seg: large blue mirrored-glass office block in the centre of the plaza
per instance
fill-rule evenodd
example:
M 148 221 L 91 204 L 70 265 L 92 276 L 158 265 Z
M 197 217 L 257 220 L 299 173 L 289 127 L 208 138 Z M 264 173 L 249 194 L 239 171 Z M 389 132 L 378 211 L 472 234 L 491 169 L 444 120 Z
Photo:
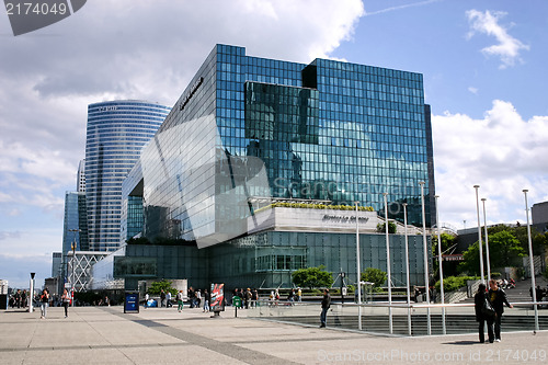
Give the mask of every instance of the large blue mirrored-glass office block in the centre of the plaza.
M 122 239 L 142 227 L 151 241 L 195 241 L 212 266 L 206 276 L 189 271 L 184 277 L 204 283 L 232 277 L 233 285 L 287 285 L 290 271 L 328 261 L 328 270 L 350 272 L 355 236 L 250 233 L 250 223 L 262 225 L 255 212 L 279 199 L 359 202 L 384 216 L 388 193 L 390 219 L 403 220 L 407 203 L 408 221 L 422 226 L 424 181 L 430 226 L 433 169 L 422 75 L 328 59 L 305 65 L 258 58 L 243 47 L 217 45 L 124 182 Z M 142 217 L 130 214 L 139 203 Z M 379 266 L 385 238 L 368 235 L 363 261 Z M 412 242 L 419 278 L 422 239 Z M 139 250 L 146 256 L 147 249 Z M 329 259 L 333 252 L 344 254 Z

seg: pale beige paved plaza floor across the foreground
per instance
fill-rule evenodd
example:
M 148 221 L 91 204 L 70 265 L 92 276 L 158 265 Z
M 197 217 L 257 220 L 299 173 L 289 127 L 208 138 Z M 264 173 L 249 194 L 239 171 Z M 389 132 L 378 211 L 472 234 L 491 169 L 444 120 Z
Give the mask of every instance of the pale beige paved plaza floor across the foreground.
M 318 316 L 319 316 L 318 309 Z M 0 364 L 548 364 L 548 332 L 375 337 L 246 318 L 232 308 L 210 318 L 201 309 L 123 307 L 0 311 Z

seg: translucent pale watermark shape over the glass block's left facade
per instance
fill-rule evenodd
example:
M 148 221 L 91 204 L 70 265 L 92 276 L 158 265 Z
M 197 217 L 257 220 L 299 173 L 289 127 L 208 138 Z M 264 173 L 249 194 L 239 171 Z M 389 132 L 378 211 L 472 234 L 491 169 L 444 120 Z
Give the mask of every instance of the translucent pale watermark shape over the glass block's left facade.
M 266 169 L 260 158 L 230 156 L 218 136 L 207 115 L 158 133 L 144 150 L 147 237 L 204 248 L 247 232 L 249 197 L 271 194 Z

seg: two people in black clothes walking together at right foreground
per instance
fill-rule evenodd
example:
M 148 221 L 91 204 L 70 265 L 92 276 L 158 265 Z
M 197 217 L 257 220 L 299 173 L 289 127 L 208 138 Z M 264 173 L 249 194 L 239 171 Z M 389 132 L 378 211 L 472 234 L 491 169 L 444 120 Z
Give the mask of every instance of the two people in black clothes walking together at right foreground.
M 486 284 L 481 283 L 473 297 L 476 309 L 476 321 L 479 322 L 479 341 L 486 342 L 486 323 L 488 340 L 490 343 L 501 342 L 501 321 L 504 312 L 504 305 L 510 308 L 506 293 L 499 286 L 495 280 L 489 281 L 489 290 Z

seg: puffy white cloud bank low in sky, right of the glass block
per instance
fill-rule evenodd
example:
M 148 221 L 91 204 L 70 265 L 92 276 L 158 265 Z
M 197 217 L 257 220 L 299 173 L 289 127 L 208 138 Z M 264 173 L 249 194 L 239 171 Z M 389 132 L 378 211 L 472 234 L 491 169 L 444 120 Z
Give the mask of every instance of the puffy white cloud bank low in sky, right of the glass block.
M 548 116 L 524 121 L 510 102 L 495 100 L 482 119 L 434 115 L 433 136 L 442 221 L 477 225 L 475 184 L 488 198 L 489 223 L 523 223 L 523 189 L 530 205 L 546 199 Z

